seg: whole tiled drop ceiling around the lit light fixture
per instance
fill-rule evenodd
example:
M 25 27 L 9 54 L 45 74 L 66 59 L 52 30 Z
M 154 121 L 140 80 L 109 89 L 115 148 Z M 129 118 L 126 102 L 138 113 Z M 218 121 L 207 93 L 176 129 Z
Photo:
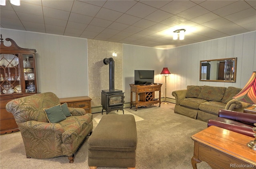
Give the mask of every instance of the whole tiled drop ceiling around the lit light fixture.
M 0 26 L 169 49 L 255 31 L 256 0 L 6 0 Z

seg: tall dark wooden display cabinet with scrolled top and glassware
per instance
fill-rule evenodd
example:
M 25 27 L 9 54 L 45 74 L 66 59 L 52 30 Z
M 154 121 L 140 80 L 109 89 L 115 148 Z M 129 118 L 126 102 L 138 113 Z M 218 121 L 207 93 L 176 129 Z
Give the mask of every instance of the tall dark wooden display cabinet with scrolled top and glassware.
M 36 50 L 20 48 L 14 40 L 4 45 L 0 38 L 0 134 L 18 131 L 12 113 L 6 111 L 6 104 L 16 98 L 37 93 Z

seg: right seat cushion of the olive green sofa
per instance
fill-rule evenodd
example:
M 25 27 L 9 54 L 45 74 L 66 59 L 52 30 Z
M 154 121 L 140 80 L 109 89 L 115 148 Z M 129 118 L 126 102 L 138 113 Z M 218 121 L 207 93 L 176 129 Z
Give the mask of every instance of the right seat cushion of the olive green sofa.
M 208 113 L 218 114 L 219 110 L 224 109 L 225 106 L 226 106 L 226 104 L 222 103 L 222 102 L 207 101 L 207 102 L 201 103 L 199 105 L 199 109 L 201 111 L 206 111 Z

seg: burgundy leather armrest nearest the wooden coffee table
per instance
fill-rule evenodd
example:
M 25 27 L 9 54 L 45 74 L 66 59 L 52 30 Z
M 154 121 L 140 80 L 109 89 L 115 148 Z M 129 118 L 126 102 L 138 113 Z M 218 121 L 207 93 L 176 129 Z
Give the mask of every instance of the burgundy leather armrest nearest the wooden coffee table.
M 210 127 L 211 125 L 214 125 L 214 126 L 217 126 L 217 127 L 223 128 L 223 129 L 227 129 L 230 131 L 234 131 L 236 133 L 240 133 L 243 135 L 248 135 L 250 137 L 254 137 L 254 132 L 252 131 L 252 128 L 250 128 L 250 127 L 228 124 L 228 123 L 224 123 L 221 121 L 216 121 L 216 120 L 210 119 L 208 121 L 208 127 Z

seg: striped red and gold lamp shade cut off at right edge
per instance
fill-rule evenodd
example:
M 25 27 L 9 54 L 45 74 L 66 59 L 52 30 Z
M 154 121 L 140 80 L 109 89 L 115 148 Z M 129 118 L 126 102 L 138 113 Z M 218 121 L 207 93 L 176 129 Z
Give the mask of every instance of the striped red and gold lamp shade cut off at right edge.
M 237 95 L 233 97 L 233 99 L 256 104 L 256 72 L 252 73 L 252 76 L 247 84 Z

